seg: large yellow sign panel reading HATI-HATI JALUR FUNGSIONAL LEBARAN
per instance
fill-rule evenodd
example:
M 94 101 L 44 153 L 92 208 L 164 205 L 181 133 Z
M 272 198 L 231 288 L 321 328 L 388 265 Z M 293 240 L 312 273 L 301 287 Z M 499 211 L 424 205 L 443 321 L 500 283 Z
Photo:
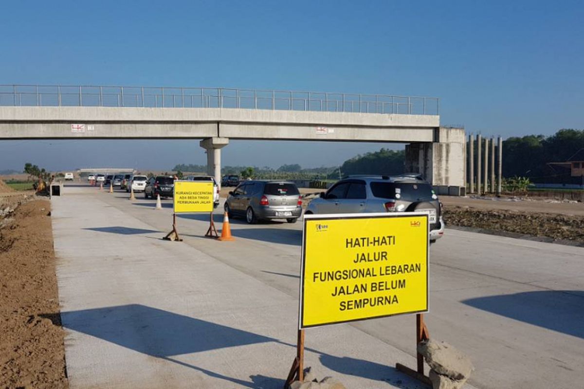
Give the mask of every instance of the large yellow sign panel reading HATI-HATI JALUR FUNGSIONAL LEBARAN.
M 428 215 L 305 215 L 300 329 L 428 310 Z

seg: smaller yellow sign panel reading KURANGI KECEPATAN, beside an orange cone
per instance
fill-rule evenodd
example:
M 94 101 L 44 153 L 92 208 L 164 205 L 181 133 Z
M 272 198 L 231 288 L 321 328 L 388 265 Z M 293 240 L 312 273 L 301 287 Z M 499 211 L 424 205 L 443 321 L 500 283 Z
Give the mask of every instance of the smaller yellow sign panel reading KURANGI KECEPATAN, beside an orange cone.
M 175 181 L 174 212 L 213 212 L 213 182 Z

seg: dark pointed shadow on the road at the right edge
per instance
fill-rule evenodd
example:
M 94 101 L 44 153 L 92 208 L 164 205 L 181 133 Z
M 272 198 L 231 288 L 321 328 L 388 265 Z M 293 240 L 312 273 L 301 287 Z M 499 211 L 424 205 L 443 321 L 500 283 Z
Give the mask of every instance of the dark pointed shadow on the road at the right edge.
M 538 290 L 463 300 L 471 307 L 584 338 L 582 290 Z

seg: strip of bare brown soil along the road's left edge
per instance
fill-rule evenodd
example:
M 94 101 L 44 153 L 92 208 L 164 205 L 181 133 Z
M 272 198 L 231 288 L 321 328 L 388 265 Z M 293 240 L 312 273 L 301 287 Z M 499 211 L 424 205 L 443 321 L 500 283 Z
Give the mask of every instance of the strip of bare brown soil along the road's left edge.
M 23 201 L 0 229 L 0 388 L 67 388 L 50 202 Z

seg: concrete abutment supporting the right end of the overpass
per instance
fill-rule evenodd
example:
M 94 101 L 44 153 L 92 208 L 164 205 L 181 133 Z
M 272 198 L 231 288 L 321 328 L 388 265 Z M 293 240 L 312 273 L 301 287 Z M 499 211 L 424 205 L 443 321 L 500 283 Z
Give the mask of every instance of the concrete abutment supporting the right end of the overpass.
M 463 128 L 436 128 L 434 142 L 410 143 L 405 146 L 405 171 L 420 173 L 438 195 L 465 195 Z

